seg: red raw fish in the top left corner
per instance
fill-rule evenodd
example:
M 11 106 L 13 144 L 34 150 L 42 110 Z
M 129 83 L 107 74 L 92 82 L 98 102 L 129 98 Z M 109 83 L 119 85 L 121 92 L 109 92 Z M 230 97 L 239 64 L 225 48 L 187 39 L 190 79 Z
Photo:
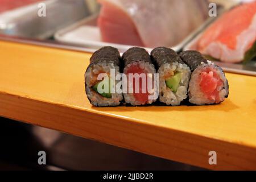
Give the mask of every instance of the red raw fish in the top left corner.
M 39 2 L 39 0 L 0 0 L 0 13 L 30 5 L 35 2 Z

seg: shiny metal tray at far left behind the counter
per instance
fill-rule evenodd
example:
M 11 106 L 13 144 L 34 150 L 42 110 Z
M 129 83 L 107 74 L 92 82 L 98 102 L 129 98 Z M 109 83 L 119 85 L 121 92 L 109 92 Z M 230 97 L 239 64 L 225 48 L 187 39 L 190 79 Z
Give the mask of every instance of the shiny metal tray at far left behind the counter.
M 38 16 L 38 3 L 0 14 L 0 34 L 46 39 L 57 30 L 92 14 L 92 3 L 84 0 L 48 0 L 46 17 Z M 89 6 L 90 5 L 90 6 Z

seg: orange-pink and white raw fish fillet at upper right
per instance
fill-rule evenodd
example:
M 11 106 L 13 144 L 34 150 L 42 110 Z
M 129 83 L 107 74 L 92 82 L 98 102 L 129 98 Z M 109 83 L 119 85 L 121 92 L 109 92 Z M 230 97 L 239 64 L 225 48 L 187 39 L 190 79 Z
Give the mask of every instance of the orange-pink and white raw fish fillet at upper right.
M 256 1 L 228 11 L 189 49 L 224 62 L 238 63 L 256 41 Z

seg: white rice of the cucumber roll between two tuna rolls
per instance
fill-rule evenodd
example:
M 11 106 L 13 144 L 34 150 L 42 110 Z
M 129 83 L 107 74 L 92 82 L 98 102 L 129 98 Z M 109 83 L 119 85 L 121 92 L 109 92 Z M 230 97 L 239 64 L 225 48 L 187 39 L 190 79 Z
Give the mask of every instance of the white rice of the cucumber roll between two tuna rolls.
M 180 84 L 177 88 L 177 92 L 172 92 L 170 88 L 166 86 L 166 75 L 174 75 L 175 72 L 181 72 L 182 77 Z M 187 98 L 188 82 L 191 75 L 191 71 L 186 64 L 181 63 L 166 63 L 159 69 L 159 100 L 167 105 L 177 106 L 180 102 Z

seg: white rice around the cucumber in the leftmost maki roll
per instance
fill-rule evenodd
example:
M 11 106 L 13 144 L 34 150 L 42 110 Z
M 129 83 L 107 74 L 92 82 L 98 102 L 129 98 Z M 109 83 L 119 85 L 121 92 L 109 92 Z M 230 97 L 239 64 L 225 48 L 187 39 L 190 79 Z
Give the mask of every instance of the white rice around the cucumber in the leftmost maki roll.
M 119 73 L 119 68 L 115 67 L 113 63 L 98 63 L 89 67 L 85 73 L 85 82 L 86 82 L 86 94 L 89 100 L 93 105 L 96 106 L 118 106 L 123 100 L 122 94 L 112 93 L 112 98 L 106 98 L 95 92 L 92 88 L 95 82 L 94 79 L 97 79 L 99 73 L 107 73 L 110 76 L 110 69 L 115 69 L 115 75 Z M 115 81 L 117 84 L 118 81 Z

